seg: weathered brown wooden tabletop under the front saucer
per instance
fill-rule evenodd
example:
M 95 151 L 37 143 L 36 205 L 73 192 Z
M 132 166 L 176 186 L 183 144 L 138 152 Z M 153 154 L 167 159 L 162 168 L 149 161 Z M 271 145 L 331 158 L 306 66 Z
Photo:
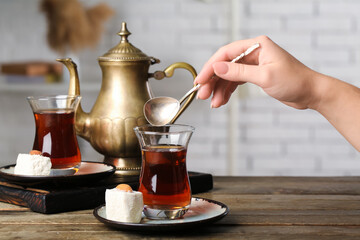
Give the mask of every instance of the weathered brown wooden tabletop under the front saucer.
M 0 203 L 0 239 L 360 239 L 360 177 L 215 177 L 196 196 L 225 203 L 229 215 L 149 234 L 111 229 L 92 210 L 45 215 Z

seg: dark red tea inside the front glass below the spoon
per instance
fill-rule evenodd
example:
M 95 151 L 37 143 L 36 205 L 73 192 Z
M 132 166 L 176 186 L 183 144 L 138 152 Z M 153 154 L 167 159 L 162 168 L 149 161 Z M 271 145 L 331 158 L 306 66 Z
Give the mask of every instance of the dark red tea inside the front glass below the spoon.
M 142 151 L 139 191 L 144 204 L 156 209 L 177 209 L 190 205 L 191 189 L 186 169 L 186 149 L 155 146 Z

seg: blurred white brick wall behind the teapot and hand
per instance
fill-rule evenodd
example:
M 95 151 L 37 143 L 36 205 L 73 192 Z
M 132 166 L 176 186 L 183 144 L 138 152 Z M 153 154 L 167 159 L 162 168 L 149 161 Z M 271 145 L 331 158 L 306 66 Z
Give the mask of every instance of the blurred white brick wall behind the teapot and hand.
M 79 66 L 82 105 L 90 111 L 101 84 L 97 58 L 115 46 L 121 22 L 129 41 L 161 60 L 150 72 L 184 61 L 199 72 L 215 51 L 234 40 L 268 35 L 307 66 L 359 86 L 360 2 L 356 0 L 88 0 L 84 9 L 105 3 L 113 13 L 102 23 L 92 47 L 55 51 L 47 41 L 49 19 L 40 0 L 0 2 L 0 64 L 54 63 L 72 57 Z M 111 15 L 111 16 L 110 16 Z M 76 31 L 76 30 L 75 30 Z M 80 31 L 80 30 L 79 30 Z M 0 165 L 28 152 L 34 119 L 26 96 L 67 92 L 67 72 L 52 81 L 0 76 Z M 156 96 L 180 98 L 191 75 L 150 79 Z M 256 87 L 242 86 L 231 102 L 210 109 L 195 100 L 178 123 L 196 131 L 188 149 L 188 170 L 214 175 L 347 176 L 360 174 L 360 155 L 318 113 L 291 109 Z M 80 139 L 85 161 L 102 161 Z

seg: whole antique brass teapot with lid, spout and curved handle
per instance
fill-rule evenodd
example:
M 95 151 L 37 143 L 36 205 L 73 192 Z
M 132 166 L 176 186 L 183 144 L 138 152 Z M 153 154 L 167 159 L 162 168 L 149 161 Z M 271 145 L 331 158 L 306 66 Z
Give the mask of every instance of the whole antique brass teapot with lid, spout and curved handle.
M 116 173 L 137 177 L 141 168 L 141 151 L 133 128 L 146 124 L 143 106 L 150 99 L 148 78 L 161 80 L 171 77 L 176 68 L 184 68 L 196 77 L 195 69 L 184 62 L 171 64 L 164 71 L 149 73 L 149 67 L 160 61 L 149 57 L 128 41 L 131 33 L 126 23 L 118 35 L 119 44 L 98 58 L 102 70 L 102 84 L 90 113 L 81 104 L 76 110 L 75 129 L 78 136 L 89 141 L 104 155 L 104 162 L 116 166 Z M 70 59 L 57 59 L 70 72 L 69 95 L 80 95 L 76 64 Z M 181 106 L 174 122 L 194 99 L 195 93 Z

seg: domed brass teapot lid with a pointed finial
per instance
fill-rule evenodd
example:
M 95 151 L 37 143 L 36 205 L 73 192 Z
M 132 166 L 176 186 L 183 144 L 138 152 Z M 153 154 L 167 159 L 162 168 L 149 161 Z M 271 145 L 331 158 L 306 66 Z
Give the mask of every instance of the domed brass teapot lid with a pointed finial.
M 128 36 L 131 34 L 127 30 L 126 22 L 122 22 L 121 30 L 118 32 L 118 35 L 121 37 L 120 42 L 113 48 L 111 48 L 107 53 L 98 58 L 99 62 L 108 62 L 108 61 L 151 61 L 158 62 L 159 60 L 147 56 L 140 49 L 134 47 L 128 41 Z

